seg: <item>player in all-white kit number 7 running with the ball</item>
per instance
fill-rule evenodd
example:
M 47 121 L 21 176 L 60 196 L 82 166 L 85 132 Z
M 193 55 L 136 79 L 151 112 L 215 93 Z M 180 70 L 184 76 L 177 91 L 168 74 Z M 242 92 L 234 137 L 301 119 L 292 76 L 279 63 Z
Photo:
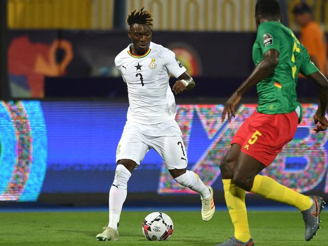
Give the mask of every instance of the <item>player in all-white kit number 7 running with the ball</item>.
M 127 23 L 132 43 L 115 58 L 128 87 L 127 122 L 116 152 L 117 168 L 110 190 L 110 222 L 97 240 L 118 240 L 118 223 L 127 197 L 127 183 L 133 169 L 153 148 L 165 161 L 173 178 L 201 196 L 201 215 L 209 221 L 215 211 L 213 189 L 198 175 L 186 170 L 187 154 L 181 130 L 175 121 L 175 98 L 169 85 L 170 73 L 178 81 L 176 94 L 195 87 L 194 80 L 171 50 L 151 42 L 152 15 L 148 11 L 132 11 Z

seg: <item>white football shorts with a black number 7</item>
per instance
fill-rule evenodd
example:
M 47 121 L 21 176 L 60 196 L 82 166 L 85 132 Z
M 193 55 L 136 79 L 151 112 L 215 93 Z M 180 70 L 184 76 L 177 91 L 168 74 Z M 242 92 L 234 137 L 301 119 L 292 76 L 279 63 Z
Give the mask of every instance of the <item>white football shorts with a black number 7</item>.
M 186 148 L 181 130 L 175 120 L 155 125 L 127 121 L 116 151 L 116 162 L 130 159 L 139 166 L 151 148 L 162 157 L 168 169 L 187 167 Z

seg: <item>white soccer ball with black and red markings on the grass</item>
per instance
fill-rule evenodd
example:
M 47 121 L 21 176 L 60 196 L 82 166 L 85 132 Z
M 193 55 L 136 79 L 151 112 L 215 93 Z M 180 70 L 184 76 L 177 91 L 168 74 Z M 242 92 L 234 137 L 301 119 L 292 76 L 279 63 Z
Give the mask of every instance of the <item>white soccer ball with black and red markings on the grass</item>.
M 173 233 L 173 221 L 165 213 L 153 212 L 143 220 L 142 233 L 150 241 L 168 240 Z

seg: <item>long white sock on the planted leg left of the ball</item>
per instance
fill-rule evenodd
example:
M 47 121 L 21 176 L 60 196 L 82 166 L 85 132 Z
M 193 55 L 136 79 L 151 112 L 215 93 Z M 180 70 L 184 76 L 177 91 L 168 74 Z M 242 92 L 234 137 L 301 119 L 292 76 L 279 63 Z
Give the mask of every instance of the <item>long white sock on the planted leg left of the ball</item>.
M 127 198 L 127 184 L 130 177 L 131 172 L 125 166 L 117 165 L 110 190 L 110 223 L 108 223 L 108 227 L 112 227 L 114 230 L 117 230 L 123 203 Z

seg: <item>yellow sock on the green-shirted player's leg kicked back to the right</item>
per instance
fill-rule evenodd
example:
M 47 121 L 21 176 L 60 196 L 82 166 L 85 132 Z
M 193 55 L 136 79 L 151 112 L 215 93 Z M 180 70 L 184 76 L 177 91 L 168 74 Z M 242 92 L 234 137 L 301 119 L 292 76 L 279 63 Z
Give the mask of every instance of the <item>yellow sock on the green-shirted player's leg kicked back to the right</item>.
M 309 209 L 313 204 L 310 197 L 295 192 L 267 176 L 256 175 L 251 192 L 295 206 L 300 211 Z

